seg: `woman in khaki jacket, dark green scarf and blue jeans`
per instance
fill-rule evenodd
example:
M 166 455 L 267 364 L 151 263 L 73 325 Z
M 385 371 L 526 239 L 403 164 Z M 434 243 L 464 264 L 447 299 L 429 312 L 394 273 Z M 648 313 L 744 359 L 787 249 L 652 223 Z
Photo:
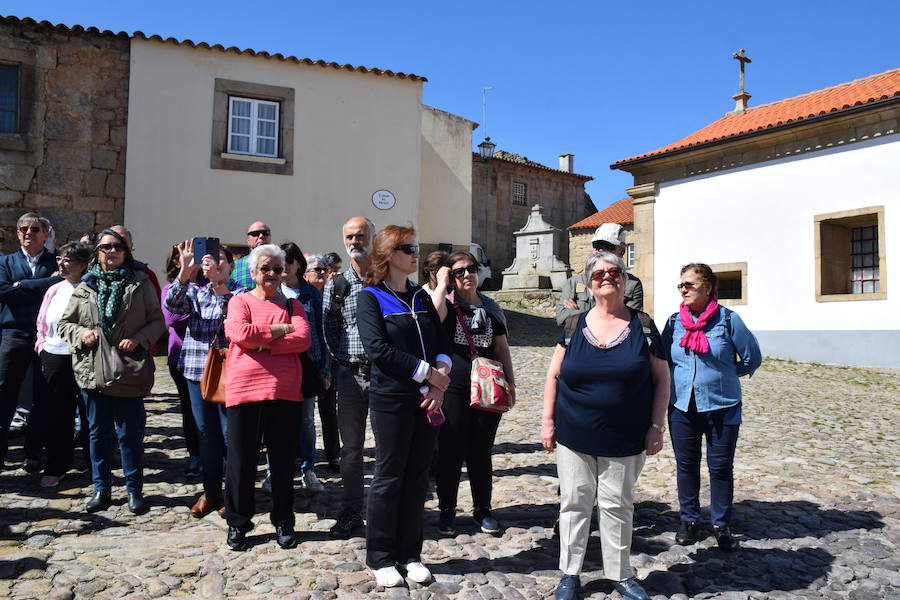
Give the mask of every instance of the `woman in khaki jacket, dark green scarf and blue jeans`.
M 143 459 L 144 396 L 150 393 L 152 382 L 144 389 L 113 384 L 101 392 L 94 368 L 99 336 L 105 335 L 121 352 L 142 349 L 149 359 L 150 346 L 165 330 L 159 295 L 147 274 L 135 268 L 125 238 L 111 229 L 102 231 L 88 272 L 72 292 L 57 325 L 59 336 L 72 349 L 75 381 L 82 390 L 90 424 L 94 493 L 85 507 L 88 512 L 112 504 L 114 435 L 119 441 L 128 509 L 143 514 L 150 508 L 143 497 Z M 112 391 L 116 389 L 122 391 Z

